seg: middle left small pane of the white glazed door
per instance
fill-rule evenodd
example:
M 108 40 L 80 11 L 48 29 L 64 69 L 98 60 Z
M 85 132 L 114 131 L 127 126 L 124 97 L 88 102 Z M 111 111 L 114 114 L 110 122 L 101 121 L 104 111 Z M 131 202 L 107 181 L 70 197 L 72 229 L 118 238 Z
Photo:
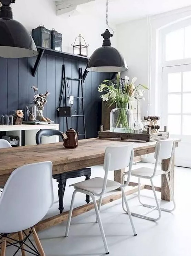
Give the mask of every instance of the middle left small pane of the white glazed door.
M 168 95 L 168 114 L 181 113 L 181 95 L 169 94 Z

